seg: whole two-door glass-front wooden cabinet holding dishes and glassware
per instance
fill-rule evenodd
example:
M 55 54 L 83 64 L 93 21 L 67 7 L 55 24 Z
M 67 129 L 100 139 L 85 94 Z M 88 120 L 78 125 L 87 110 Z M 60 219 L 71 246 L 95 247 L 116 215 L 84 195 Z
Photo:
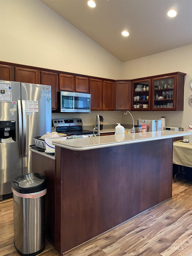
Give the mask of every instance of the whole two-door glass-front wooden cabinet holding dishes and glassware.
M 183 110 L 185 75 L 175 72 L 133 80 L 131 110 Z

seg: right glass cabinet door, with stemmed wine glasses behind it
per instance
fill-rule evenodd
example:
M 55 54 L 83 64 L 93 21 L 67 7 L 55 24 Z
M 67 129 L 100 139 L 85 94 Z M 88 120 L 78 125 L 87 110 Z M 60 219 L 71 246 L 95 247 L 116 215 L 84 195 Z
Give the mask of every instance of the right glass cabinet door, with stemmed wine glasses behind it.
M 175 110 L 176 76 L 152 79 L 152 110 Z

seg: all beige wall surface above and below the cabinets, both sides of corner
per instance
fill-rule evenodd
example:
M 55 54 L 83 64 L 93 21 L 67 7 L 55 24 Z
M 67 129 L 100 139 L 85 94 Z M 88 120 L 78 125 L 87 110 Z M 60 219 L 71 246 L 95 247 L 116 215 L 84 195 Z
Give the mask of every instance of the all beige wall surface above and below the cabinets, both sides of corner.
M 181 71 L 187 73 L 184 111 L 132 111 L 134 121 L 166 116 L 167 126 L 192 125 L 192 45 L 122 63 L 71 26 L 38 0 L 0 0 L 0 60 L 36 67 L 73 72 L 111 79 L 133 79 Z M 124 112 L 89 114 L 53 114 L 57 117 L 80 117 L 84 125 L 95 123 L 96 114 L 104 124 L 132 123 Z

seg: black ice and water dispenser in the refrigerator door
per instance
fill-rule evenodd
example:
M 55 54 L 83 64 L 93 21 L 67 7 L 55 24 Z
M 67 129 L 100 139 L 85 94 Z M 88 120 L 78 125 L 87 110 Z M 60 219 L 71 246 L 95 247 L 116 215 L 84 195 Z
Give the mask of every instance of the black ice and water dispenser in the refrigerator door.
M 0 143 L 16 141 L 16 122 L 0 121 Z

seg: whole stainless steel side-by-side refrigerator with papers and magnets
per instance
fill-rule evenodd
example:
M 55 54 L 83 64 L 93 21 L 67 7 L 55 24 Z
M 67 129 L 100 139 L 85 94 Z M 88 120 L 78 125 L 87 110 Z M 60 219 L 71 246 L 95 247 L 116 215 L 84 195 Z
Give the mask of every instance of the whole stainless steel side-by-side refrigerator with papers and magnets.
M 29 145 L 51 132 L 51 86 L 0 80 L 0 201 L 13 178 L 32 172 Z

